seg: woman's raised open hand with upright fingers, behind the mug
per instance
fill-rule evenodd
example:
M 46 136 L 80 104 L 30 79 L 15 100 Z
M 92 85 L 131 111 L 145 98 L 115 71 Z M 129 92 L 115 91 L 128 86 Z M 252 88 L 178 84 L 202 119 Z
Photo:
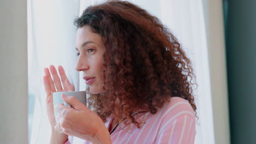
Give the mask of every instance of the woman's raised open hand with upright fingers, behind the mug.
M 74 91 L 74 85 L 69 83 L 67 76 L 65 74 L 65 70 L 60 65 L 58 67 L 59 74 L 61 77 L 58 76 L 57 71 L 53 65 L 50 65 L 50 71 L 51 75 L 53 76 L 53 79 L 51 79 L 51 75 L 48 68 L 44 69 L 44 88 L 46 92 L 46 111 L 49 118 L 49 122 L 51 125 L 51 128 L 54 129 L 54 126 L 56 125 L 55 116 L 54 116 L 54 105 L 53 105 L 53 93 L 54 92 L 67 92 L 67 91 Z M 61 86 L 61 82 L 63 84 L 63 87 Z M 56 91 L 56 89 L 57 91 Z

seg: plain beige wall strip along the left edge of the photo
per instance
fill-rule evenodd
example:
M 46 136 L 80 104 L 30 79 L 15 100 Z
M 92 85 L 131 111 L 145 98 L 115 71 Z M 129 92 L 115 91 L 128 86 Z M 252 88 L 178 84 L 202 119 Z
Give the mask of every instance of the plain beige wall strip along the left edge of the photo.
M 0 1 L 0 140 L 27 141 L 27 1 Z

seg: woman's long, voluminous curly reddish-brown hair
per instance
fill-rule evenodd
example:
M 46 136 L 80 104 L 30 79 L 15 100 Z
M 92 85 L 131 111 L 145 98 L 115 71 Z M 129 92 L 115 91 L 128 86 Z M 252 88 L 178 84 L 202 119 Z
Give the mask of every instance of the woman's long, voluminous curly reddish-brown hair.
M 87 88 L 88 107 L 103 122 L 113 115 L 116 122 L 127 119 L 139 128 L 133 113 L 145 106 L 156 113 L 171 97 L 188 100 L 196 115 L 191 62 L 157 17 L 127 1 L 107 1 L 86 8 L 74 24 L 90 26 L 106 47 L 104 92 Z

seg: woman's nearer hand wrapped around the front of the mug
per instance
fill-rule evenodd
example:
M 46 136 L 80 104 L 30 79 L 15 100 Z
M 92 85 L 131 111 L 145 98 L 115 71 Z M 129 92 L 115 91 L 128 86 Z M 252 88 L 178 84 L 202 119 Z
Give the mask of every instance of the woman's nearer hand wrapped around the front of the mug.
M 62 94 L 62 99 L 72 108 L 63 104 L 55 106 L 58 113 L 56 119 L 59 121 L 59 125 L 55 126 L 56 131 L 94 143 L 111 143 L 109 131 L 95 112 L 89 110 L 75 97 Z

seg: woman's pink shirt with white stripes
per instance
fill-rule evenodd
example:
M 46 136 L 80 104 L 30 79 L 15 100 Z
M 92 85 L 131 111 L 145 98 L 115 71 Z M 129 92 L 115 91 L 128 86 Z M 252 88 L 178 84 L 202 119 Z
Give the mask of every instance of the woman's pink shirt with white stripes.
M 140 111 L 135 118 L 145 122 L 141 128 L 137 128 L 133 123 L 123 129 L 117 127 L 110 135 L 112 143 L 194 143 L 195 114 L 191 105 L 183 98 L 171 98 L 171 101 L 155 114 L 149 111 Z M 105 123 L 107 129 L 112 120 L 109 118 Z M 123 123 L 119 125 L 124 126 Z M 65 144 L 70 143 L 68 140 Z M 91 142 L 83 140 L 82 143 L 89 144 Z

